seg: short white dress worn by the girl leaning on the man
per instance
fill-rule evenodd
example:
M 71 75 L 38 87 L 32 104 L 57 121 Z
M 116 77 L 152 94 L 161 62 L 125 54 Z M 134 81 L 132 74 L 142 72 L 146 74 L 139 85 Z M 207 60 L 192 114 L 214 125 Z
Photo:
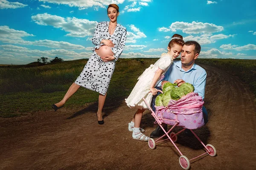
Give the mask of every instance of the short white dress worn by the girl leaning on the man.
M 172 56 L 166 53 L 163 53 L 160 59 L 153 65 L 151 64 L 149 68 L 147 68 L 143 74 L 140 75 L 138 78 L 138 82 L 134 86 L 131 94 L 125 99 L 129 108 L 137 108 L 137 109 L 149 109 L 148 106 L 145 104 L 143 97 L 151 105 L 152 100 L 152 93 L 150 92 L 151 82 L 153 80 L 154 74 L 156 73 L 157 69 L 160 68 L 163 70 L 163 73 L 158 78 L 156 86 L 163 78 L 166 71 L 169 69 L 173 62 Z

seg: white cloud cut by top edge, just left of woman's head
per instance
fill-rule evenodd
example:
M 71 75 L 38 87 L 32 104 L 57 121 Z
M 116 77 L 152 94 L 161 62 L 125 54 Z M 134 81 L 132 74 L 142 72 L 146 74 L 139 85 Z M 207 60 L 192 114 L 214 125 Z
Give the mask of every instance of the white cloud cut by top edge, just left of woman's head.
M 121 4 L 125 0 L 39 0 L 47 3 L 55 3 L 68 5 L 70 7 L 78 7 L 79 10 L 83 10 L 89 7 L 97 6 L 100 8 L 106 8 L 111 3 Z

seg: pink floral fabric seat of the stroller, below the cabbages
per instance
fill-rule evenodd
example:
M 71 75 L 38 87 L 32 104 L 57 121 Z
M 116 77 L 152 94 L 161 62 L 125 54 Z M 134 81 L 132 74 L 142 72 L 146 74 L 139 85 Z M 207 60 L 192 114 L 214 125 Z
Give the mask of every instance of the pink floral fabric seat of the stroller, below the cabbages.
M 187 129 L 197 129 L 204 125 L 203 108 L 204 101 L 198 93 L 189 93 L 179 100 L 170 100 L 167 107 L 155 106 L 156 115 L 161 122 Z

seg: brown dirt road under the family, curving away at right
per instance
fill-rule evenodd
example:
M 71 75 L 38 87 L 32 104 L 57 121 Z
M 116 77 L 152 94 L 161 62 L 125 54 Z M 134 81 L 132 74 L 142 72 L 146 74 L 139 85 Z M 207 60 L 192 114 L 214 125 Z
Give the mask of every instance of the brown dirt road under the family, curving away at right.
M 256 169 L 256 105 L 247 85 L 217 68 L 207 71 L 206 126 L 195 130 L 217 156 L 192 160 L 193 170 Z M 74 110 L 62 108 L 0 119 L 0 169 L 2 170 L 182 170 L 171 142 L 157 145 L 131 138 L 128 122 L 134 114 L 124 99 L 108 101 L 104 125 L 96 120 L 97 103 Z M 141 127 L 149 135 L 156 127 L 147 111 Z M 177 129 L 176 129 L 177 131 Z M 178 136 L 177 146 L 189 159 L 203 153 L 195 137 Z

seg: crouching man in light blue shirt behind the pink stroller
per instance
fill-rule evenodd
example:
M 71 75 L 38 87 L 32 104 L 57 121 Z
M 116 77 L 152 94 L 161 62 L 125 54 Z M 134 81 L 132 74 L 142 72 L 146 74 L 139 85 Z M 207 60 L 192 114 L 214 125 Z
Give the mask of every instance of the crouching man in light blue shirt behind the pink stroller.
M 195 64 L 195 59 L 198 58 L 199 53 L 201 51 L 201 46 L 196 41 L 187 41 L 183 45 L 181 50 L 180 61 L 174 61 L 173 64 L 170 66 L 166 74 L 164 75 L 165 78 L 162 82 L 157 85 L 157 89 L 162 90 L 162 86 L 166 82 L 177 83 L 179 87 L 181 84 L 188 82 L 192 84 L 195 88 L 195 93 L 202 96 L 204 99 L 204 91 L 206 85 L 206 71 L 204 68 L 201 68 L 199 65 Z M 160 92 L 157 94 L 159 95 Z M 153 96 L 151 107 L 153 111 L 155 111 L 155 99 L 156 96 Z M 203 114 L 204 114 L 204 124 L 208 122 L 208 115 L 205 107 L 203 107 Z M 163 127 L 167 130 L 167 125 L 163 124 Z M 189 133 L 189 131 L 185 131 Z M 163 130 L 160 126 L 158 126 L 151 134 L 151 138 L 157 138 L 163 135 Z

